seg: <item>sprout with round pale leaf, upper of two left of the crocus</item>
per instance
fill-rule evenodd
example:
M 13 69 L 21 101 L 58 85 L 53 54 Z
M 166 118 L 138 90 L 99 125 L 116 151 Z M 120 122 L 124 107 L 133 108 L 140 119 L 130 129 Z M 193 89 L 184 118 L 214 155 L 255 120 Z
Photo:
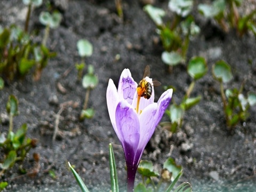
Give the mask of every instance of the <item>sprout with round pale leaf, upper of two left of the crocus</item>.
M 78 54 L 81 57 L 81 63 L 76 63 L 77 81 L 81 81 L 83 76 L 83 69 L 85 68 L 85 57 L 90 57 L 93 53 L 92 44 L 86 39 L 80 39 L 77 44 Z

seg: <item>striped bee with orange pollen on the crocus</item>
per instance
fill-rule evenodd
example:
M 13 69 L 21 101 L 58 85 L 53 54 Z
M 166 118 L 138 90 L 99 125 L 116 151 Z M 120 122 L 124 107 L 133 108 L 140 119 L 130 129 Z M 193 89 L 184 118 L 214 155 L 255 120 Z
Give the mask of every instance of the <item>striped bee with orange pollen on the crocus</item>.
M 152 86 L 159 86 L 161 85 L 158 81 L 153 81 L 152 83 L 147 82 L 147 78 L 150 75 L 150 68 L 147 65 L 144 69 L 142 80 L 140 81 L 137 92 L 140 97 L 144 97 L 145 99 L 149 99 L 152 94 Z

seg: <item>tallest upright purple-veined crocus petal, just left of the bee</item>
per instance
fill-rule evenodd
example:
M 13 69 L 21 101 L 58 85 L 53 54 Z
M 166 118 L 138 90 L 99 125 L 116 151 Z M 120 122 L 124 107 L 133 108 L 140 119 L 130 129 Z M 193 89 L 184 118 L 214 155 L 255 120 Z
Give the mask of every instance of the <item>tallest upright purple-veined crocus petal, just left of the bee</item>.
M 118 83 L 118 95 L 130 105 L 136 92 L 138 84 L 133 80 L 129 69 L 124 69 Z

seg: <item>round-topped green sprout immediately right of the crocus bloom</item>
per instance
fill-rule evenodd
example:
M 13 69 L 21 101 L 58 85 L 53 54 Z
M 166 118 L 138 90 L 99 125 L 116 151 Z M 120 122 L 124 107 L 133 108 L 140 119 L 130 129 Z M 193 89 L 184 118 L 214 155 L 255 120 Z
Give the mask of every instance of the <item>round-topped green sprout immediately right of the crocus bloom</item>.
M 186 94 L 182 98 L 181 103 L 179 105 L 177 103 L 173 103 L 169 110 L 165 111 L 165 113 L 170 117 L 171 122 L 162 122 L 160 124 L 161 126 L 173 133 L 176 132 L 179 127 L 181 127 L 185 111 L 195 106 L 201 100 L 200 95 L 190 98 L 190 94 L 194 89 L 196 81 L 202 78 L 207 73 L 207 71 L 208 68 L 204 58 L 194 57 L 189 60 L 187 73 L 191 78 L 193 78 L 193 80 L 190 83 Z

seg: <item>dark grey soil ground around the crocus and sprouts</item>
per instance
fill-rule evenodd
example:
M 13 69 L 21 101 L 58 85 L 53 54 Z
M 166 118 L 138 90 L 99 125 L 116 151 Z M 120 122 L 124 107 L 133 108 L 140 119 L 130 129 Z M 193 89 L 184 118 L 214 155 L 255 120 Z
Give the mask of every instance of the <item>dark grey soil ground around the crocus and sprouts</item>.
M 146 65 L 151 68 L 151 77 L 163 85 L 173 85 L 176 91 L 173 100 L 180 102 L 191 82 L 186 66 L 180 65 L 170 74 L 161 60 L 163 48 L 155 45 L 155 25 L 142 10 L 139 1 L 123 1 L 124 21 L 116 15 L 114 1 L 55 1 L 63 14 L 61 26 L 50 31 L 47 45 L 58 53 L 49 61 L 38 82 L 28 75 L 23 81 L 14 81 L 0 91 L 0 113 L 6 114 L 5 106 L 10 94 L 19 99 L 20 115 L 14 117 L 14 129 L 28 124 L 28 136 L 38 139 L 25 161 L 27 170 L 34 165 L 33 153 L 41 156 L 41 168 L 35 177 L 20 175 L 17 166 L 4 174 L 1 181 L 8 181 L 5 191 L 79 191 L 67 161 L 76 166 L 90 191 L 109 191 L 108 144 L 113 143 L 117 163 L 119 186 L 125 188 L 126 171 L 124 155 L 119 140 L 111 126 L 107 105 L 106 89 L 109 78 L 118 84 L 124 68 L 131 70 L 139 82 Z M 66 4 L 66 3 L 67 4 Z M 168 1 L 156 1 L 155 6 L 167 10 Z M 0 2 L 0 25 L 18 23 L 23 26 L 26 7 L 22 1 Z M 34 10 L 30 29 L 44 33 L 38 15 L 44 8 Z M 197 12 L 196 23 L 201 33 L 191 40 L 188 59 L 203 56 L 209 71 L 200 79 L 191 96 L 202 95 L 202 101 L 190 109 L 182 128 L 172 135 L 157 127 L 142 159 L 153 161 L 160 169 L 167 157 L 175 158 L 182 165 L 181 181 L 188 181 L 193 191 L 254 191 L 256 186 L 256 108 L 250 109 L 251 116 L 238 124 L 234 131 L 227 131 L 222 110 L 219 84 L 211 75 L 211 67 L 217 60 L 227 61 L 234 74 L 229 87 L 239 87 L 247 78 L 244 93 L 255 91 L 256 49 L 255 37 L 251 34 L 238 38 L 231 31 L 223 34 L 214 22 L 202 18 Z M 86 38 L 93 44 L 93 54 L 86 58 L 99 77 L 98 86 L 91 91 L 89 107 L 95 109 L 92 119 L 78 121 L 85 92 L 82 83 L 76 81 L 77 71 L 73 67 L 66 77 L 61 77 L 80 58 L 76 42 Z M 35 39 L 40 41 L 41 39 Z M 116 59 L 119 54 L 120 59 Z M 249 65 L 249 60 L 252 63 Z M 66 89 L 63 93 L 59 85 Z M 164 90 L 157 87 L 157 101 Z M 62 137 L 52 141 L 56 114 L 61 103 L 72 105 L 61 113 L 59 129 Z M 169 121 L 164 115 L 162 121 Z M 0 124 L 0 131 L 7 131 L 7 124 Z M 53 179 L 49 170 L 57 178 Z M 137 180 L 139 182 L 139 174 Z

